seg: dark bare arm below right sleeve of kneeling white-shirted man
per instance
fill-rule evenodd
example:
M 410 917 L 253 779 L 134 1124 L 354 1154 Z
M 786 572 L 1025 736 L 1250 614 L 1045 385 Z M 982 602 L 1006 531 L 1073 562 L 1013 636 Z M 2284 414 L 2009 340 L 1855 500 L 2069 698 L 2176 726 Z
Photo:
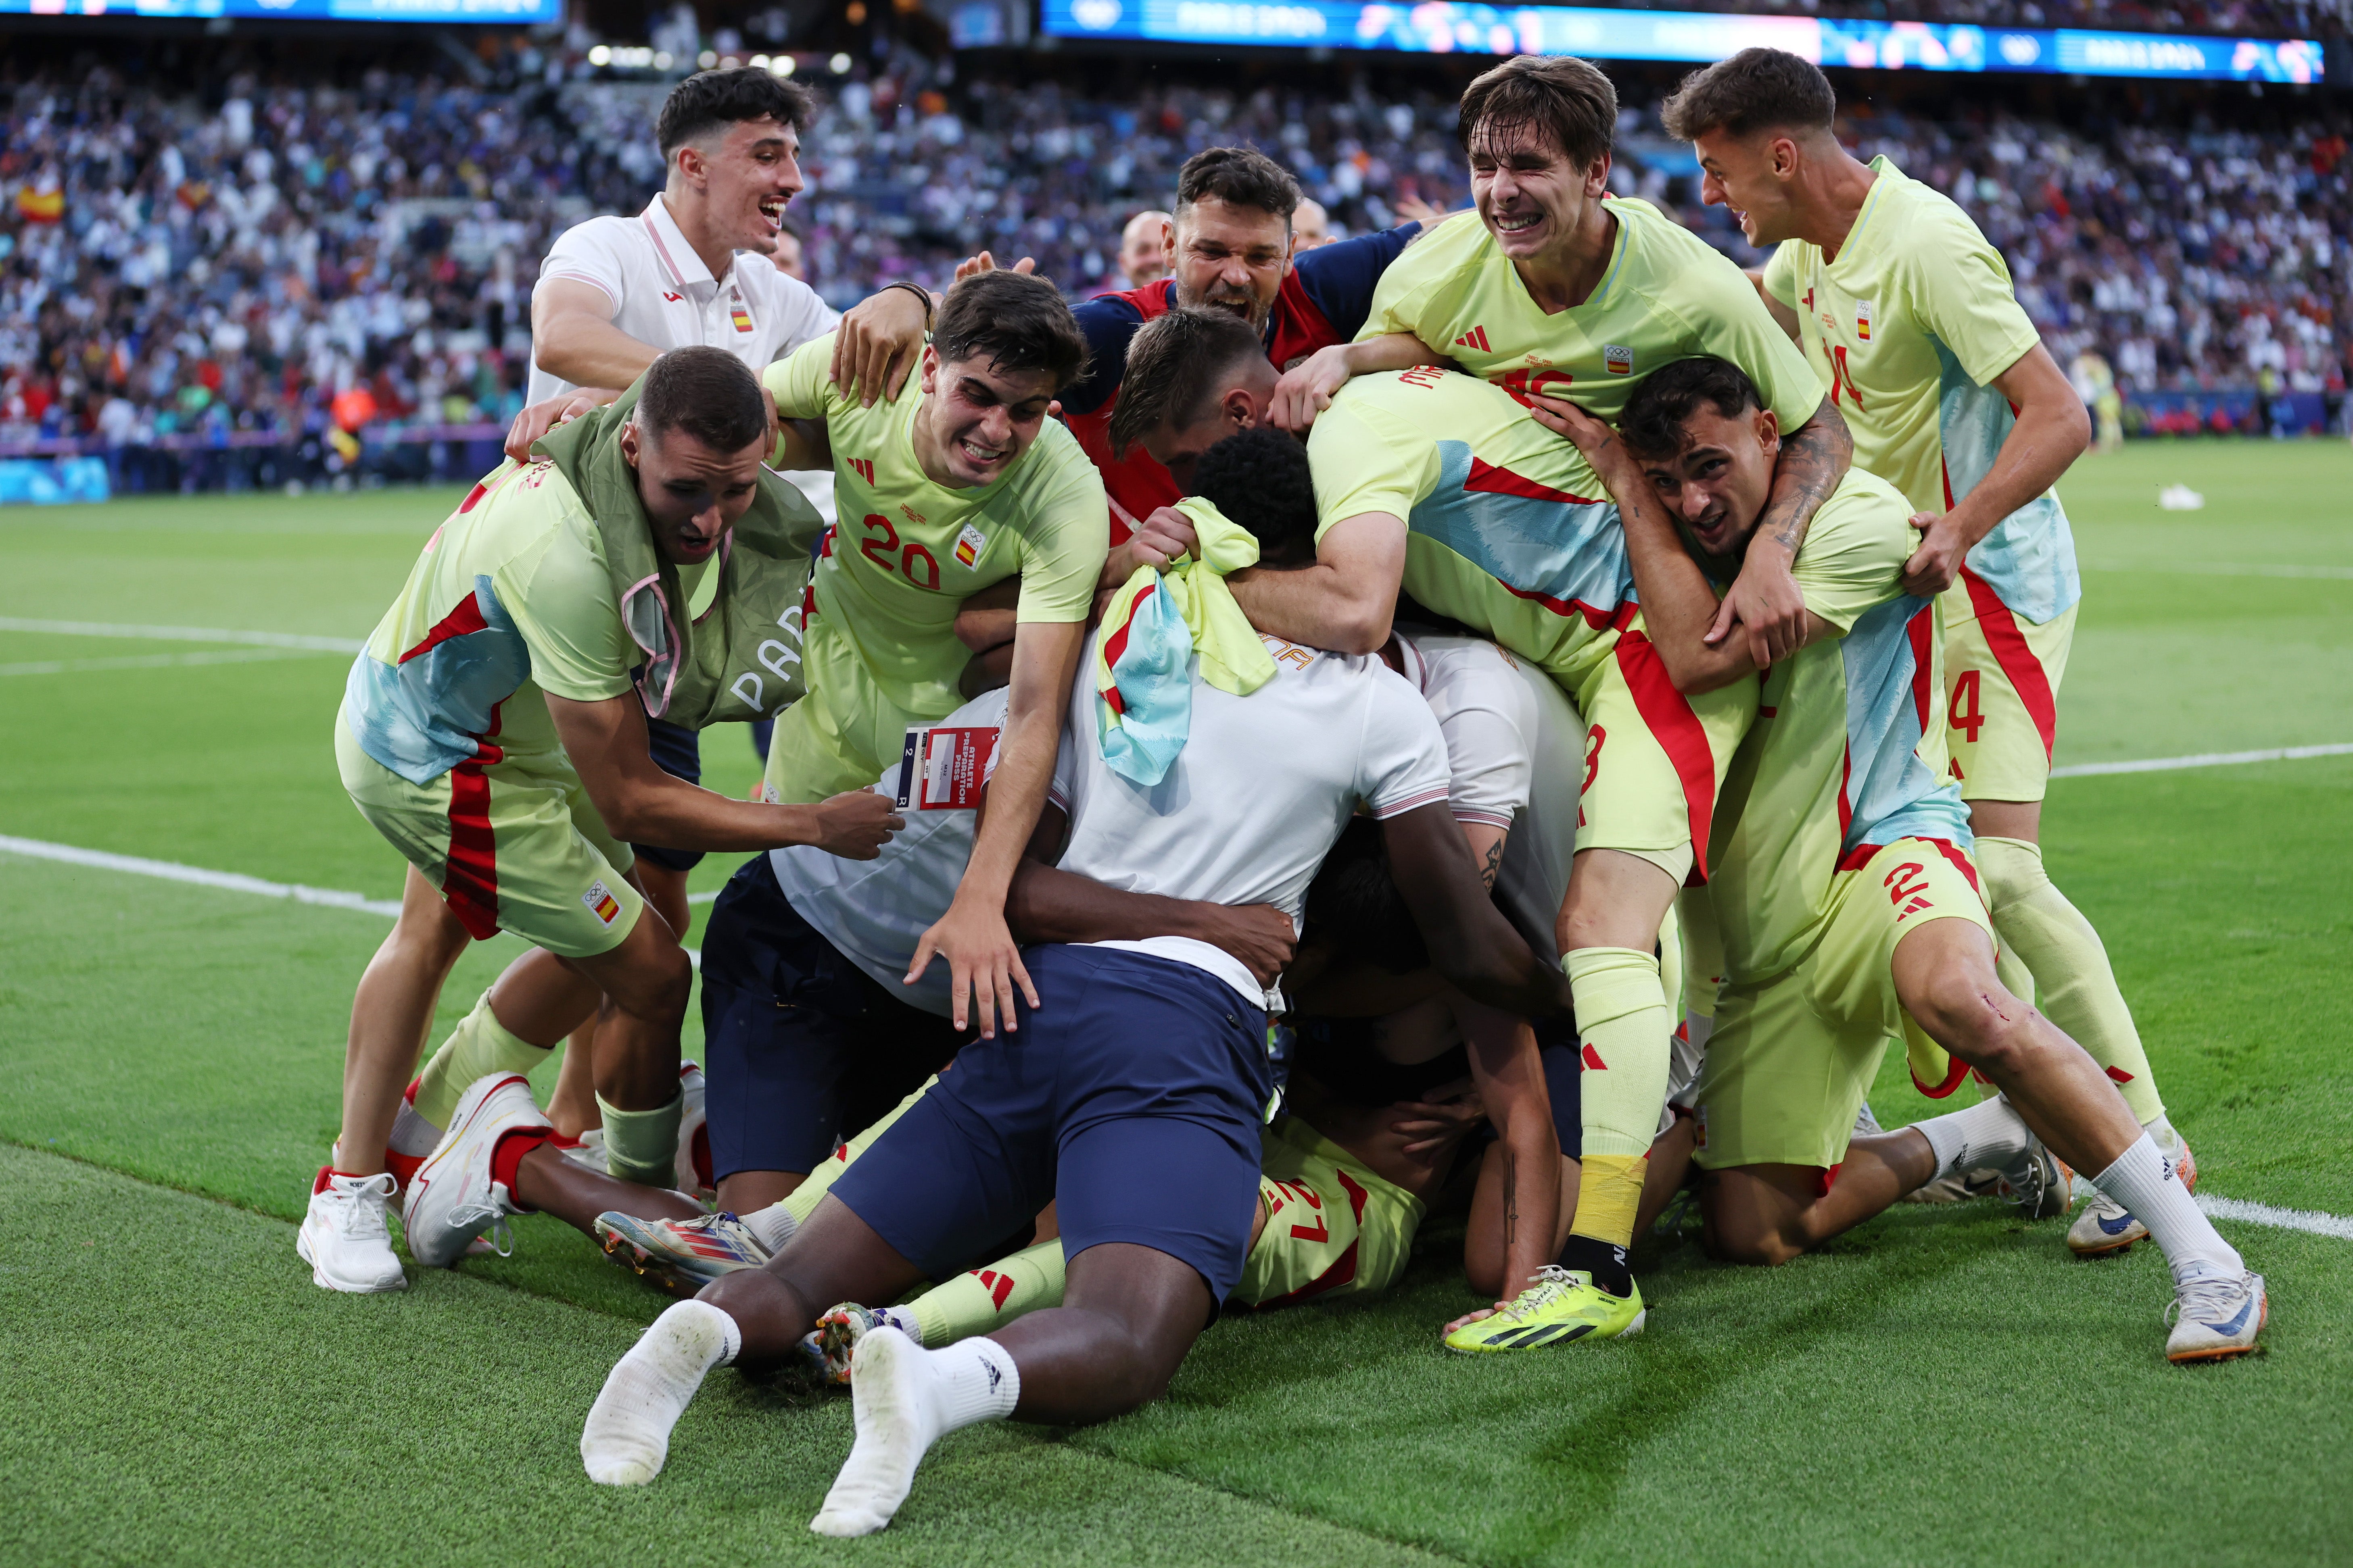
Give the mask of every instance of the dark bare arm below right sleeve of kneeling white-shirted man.
M 1381 844 L 1431 966 L 1454 990 L 1520 1018 L 1569 1016 L 1567 976 L 1539 959 L 1494 907 L 1445 804 L 1384 818 Z

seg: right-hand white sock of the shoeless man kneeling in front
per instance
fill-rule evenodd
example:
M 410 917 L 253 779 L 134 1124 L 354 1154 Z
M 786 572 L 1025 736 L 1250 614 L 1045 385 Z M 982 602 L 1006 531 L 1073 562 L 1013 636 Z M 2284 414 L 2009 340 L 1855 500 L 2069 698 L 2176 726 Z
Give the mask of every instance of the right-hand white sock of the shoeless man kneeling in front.
M 887 1526 L 932 1443 L 1014 1413 L 1021 1371 L 995 1340 L 925 1349 L 896 1328 L 871 1328 L 849 1361 L 849 1396 L 859 1441 L 809 1521 L 819 1535 L 873 1535 Z

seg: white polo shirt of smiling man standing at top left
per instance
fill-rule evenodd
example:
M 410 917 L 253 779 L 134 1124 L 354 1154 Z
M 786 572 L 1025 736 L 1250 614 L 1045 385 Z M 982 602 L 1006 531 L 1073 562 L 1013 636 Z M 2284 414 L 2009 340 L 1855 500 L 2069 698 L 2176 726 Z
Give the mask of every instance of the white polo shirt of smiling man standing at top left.
M 567 228 L 539 263 L 539 277 L 595 284 L 612 301 L 605 320 L 649 348 L 725 348 L 753 374 L 840 322 L 816 289 L 786 277 L 758 252 L 736 252 L 727 273 L 713 277 L 661 193 L 633 219 L 602 216 Z M 532 364 L 529 402 L 572 386 Z

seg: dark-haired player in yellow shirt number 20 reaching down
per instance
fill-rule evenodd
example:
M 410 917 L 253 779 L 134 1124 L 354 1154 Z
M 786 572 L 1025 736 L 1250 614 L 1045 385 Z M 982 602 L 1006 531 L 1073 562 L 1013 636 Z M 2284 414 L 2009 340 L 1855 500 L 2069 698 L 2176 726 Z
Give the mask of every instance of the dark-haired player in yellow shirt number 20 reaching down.
M 979 273 L 948 289 L 922 374 L 878 404 L 828 378 L 819 339 L 767 369 L 779 418 L 824 421 L 840 522 L 809 581 L 807 696 L 776 719 L 769 799 L 812 802 L 873 783 L 906 731 L 965 696 L 955 616 L 974 592 L 1021 578 L 1012 698 L 995 809 L 948 914 L 915 952 L 953 973 L 953 1018 L 979 987 L 981 1034 L 1012 1013 L 1021 959 L 1005 889 L 1038 825 L 1061 701 L 1108 552 L 1104 482 L 1047 407 L 1087 367 L 1071 306 L 1042 277 Z

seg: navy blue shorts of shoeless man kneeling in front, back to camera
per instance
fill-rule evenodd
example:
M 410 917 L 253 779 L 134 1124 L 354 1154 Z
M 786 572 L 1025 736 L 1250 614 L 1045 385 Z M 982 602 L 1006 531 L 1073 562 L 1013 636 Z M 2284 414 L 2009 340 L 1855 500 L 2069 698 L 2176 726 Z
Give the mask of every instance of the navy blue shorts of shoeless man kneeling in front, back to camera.
M 1122 947 L 1028 947 L 1040 1011 L 965 1046 L 833 1197 L 932 1279 L 1052 1199 L 1061 1251 L 1127 1241 L 1226 1300 L 1259 1204 L 1266 1013 Z

